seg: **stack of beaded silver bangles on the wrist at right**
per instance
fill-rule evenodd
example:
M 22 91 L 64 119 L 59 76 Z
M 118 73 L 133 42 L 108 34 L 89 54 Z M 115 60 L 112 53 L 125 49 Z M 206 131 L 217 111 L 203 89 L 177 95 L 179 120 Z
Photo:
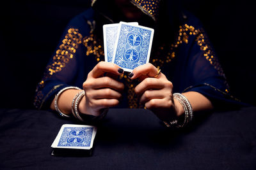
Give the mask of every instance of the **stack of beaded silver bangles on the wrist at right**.
M 173 126 L 177 127 L 177 128 L 185 127 L 193 119 L 192 106 L 189 103 L 187 97 L 185 97 L 182 94 L 175 93 L 175 94 L 173 94 L 173 98 L 177 99 L 177 101 L 179 101 L 179 103 L 182 105 L 182 108 L 184 109 L 184 120 L 182 120 L 182 122 L 180 122 L 179 120 L 175 119 L 170 122 L 164 122 L 164 124 L 167 127 L 173 127 Z

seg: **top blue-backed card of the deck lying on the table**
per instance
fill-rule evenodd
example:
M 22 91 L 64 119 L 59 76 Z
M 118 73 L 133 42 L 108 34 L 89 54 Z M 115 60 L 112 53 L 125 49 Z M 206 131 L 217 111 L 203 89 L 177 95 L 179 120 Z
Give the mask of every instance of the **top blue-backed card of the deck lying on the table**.
M 91 125 L 65 124 L 61 126 L 51 147 L 90 150 L 96 132 L 97 127 Z

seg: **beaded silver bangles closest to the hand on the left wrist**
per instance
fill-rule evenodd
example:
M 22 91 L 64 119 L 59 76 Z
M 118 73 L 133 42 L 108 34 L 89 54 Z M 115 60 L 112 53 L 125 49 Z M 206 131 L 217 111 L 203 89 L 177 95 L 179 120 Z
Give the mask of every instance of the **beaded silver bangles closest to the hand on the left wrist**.
M 77 118 L 78 120 L 80 120 L 81 122 L 86 122 L 86 123 L 90 123 L 92 121 L 98 121 L 102 118 L 104 118 L 107 113 L 108 113 L 108 108 L 105 108 L 104 111 L 102 111 L 102 113 L 95 117 L 93 115 L 86 115 L 86 114 L 81 114 L 79 113 L 78 110 L 78 105 L 81 102 L 81 99 L 83 98 L 83 96 L 85 95 L 84 90 L 82 90 L 81 92 L 78 92 L 76 94 L 76 96 L 74 97 L 73 101 L 72 101 L 72 114 L 74 115 L 75 118 Z

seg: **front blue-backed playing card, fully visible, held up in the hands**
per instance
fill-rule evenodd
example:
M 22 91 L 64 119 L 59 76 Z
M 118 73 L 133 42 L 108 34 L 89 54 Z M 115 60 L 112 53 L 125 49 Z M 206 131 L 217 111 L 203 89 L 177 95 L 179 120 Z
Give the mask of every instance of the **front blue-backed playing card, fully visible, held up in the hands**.
M 154 29 L 120 22 L 112 62 L 131 72 L 148 63 Z

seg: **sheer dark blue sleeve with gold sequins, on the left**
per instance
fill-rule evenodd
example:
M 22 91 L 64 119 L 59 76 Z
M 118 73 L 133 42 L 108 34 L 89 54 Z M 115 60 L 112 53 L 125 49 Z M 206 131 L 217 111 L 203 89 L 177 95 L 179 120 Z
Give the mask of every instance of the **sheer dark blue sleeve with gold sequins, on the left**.
M 34 105 L 36 108 L 49 108 L 56 93 L 68 86 L 82 87 L 86 78 L 86 49 L 83 45 L 84 36 L 92 29 L 93 11 L 84 11 L 74 17 L 67 25 L 56 51 L 49 60 L 42 80 L 36 87 Z

